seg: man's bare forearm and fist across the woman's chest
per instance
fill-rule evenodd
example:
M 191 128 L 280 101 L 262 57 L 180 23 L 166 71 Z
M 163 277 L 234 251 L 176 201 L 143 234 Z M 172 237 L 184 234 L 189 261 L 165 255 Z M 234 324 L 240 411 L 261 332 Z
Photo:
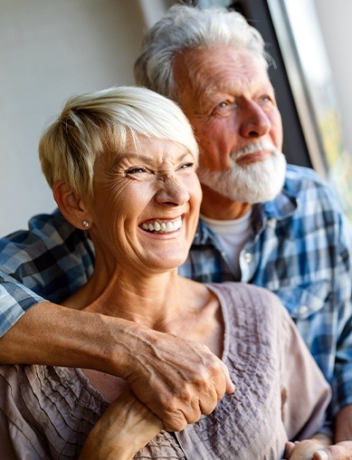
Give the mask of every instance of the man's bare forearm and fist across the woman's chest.
M 172 431 L 212 412 L 224 393 L 234 389 L 224 363 L 203 344 L 50 302 L 34 305 L 5 333 L 0 360 L 97 369 L 122 377 Z

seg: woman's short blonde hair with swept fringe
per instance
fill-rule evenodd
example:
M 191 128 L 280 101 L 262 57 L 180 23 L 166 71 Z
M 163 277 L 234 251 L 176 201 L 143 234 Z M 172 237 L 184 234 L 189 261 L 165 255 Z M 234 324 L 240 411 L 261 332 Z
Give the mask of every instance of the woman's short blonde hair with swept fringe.
M 193 130 L 175 102 L 146 88 L 120 86 L 69 99 L 45 129 L 39 157 L 50 187 L 65 180 L 74 193 L 91 199 L 94 165 L 101 153 L 122 152 L 138 136 L 176 142 L 198 161 Z

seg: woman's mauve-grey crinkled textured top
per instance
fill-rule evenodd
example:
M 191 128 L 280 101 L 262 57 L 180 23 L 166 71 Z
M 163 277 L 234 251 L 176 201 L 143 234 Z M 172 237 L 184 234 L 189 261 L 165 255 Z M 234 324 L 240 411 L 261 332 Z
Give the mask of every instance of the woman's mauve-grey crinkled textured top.
M 288 439 L 319 429 L 328 385 L 273 294 L 241 283 L 208 287 L 222 305 L 223 360 L 236 390 L 183 432 L 161 432 L 135 458 L 280 459 Z M 108 406 L 80 369 L 3 366 L 1 456 L 77 458 Z

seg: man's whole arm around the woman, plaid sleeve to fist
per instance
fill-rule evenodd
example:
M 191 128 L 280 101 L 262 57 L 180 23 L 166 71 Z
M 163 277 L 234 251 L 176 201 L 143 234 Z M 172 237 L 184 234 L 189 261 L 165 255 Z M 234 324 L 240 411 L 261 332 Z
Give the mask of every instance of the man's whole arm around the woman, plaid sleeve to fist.
M 233 385 L 224 364 L 203 345 L 41 302 L 62 302 L 87 282 L 93 264 L 87 232 L 58 211 L 34 216 L 28 230 L 0 239 L 0 362 L 117 375 L 168 429 L 182 429 L 211 411 Z

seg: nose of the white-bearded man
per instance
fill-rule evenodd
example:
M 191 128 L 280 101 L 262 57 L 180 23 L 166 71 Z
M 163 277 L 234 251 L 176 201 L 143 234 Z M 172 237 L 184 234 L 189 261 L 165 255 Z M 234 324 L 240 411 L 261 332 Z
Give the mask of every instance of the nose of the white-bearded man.
M 260 138 L 271 129 L 271 121 L 256 101 L 245 101 L 242 107 L 241 135 L 244 138 Z

